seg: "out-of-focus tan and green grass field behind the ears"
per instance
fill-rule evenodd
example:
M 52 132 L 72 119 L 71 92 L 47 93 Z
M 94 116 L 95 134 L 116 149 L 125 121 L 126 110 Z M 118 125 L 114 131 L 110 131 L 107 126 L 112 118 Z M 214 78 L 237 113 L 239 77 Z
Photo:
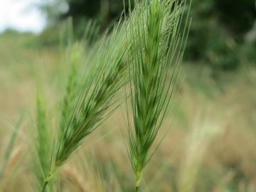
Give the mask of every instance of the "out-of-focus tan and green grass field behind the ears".
M 36 88 L 46 91 L 49 115 L 63 91 L 65 52 L 37 42 L 30 34 L 0 35 L 1 156 L 26 111 L 0 181 L 3 191 L 33 191 L 28 129 L 33 129 Z M 205 65 L 184 63 L 178 85 L 164 122 L 171 127 L 146 168 L 144 191 L 256 191 L 256 68 L 216 79 Z M 125 129 L 118 109 L 61 171 L 66 191 L 132 191 Z

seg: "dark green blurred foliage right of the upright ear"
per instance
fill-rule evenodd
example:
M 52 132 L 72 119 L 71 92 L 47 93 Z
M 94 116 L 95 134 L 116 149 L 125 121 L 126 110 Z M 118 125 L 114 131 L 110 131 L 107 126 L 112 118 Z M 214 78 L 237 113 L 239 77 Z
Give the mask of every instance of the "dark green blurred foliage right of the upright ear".
M 215 72 L 242 66 L 241 58 L 246 57 L 242 48 L 250 46 L 244 38 L 256 16 L 254 4 L 253 0 L 193 1 L 186 59 L 207 63 Z M 241 11 L 247 14 L 238 18 Z

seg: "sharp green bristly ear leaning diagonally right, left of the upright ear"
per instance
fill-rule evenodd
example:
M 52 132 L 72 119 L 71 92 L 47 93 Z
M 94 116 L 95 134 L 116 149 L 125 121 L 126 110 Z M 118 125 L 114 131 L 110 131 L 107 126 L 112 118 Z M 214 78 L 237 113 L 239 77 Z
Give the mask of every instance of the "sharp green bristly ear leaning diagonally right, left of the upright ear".
M 127 44 L 124 31 L 119 28 L 118 23 L 110 36 L 105 35 L 87 53 L 86 63 L 89 63 L 90 69 L 82 78 L 83 83 L 75 88 L 80 94 L 75 98 L 70 112 L 65 114 L 64 123 L 60 123 L 51 169 L 46 174 L 42 191 L 46 191 L 52 176 L 73 156 L 85 138 L 119 105 L 119 90 L 127 81 L 126 63 L 123 60 Z M 73 86 L 71 81 L 72 78 L 68 85 Z

